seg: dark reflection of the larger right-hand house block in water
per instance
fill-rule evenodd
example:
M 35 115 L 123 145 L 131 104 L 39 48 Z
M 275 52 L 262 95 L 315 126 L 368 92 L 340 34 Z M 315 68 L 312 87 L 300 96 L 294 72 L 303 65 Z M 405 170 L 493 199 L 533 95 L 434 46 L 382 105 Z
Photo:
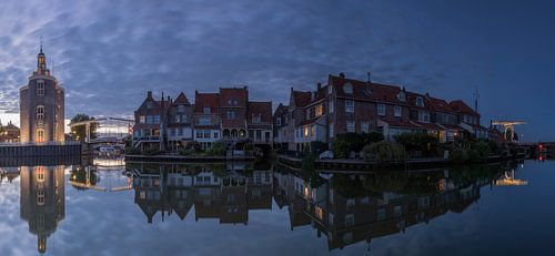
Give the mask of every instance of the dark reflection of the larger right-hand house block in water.
M 497 173 L 465 177 L 424 174 L 312 175 L 274 172 L 274 198 L 287 207 L 291 229 L 309 226 L 327 237 L 329 249 L 404 233 L 447 212 L 462 213 L 480 198 L 480 187 Z M 451 176 L 450 176 L 451 175 Z

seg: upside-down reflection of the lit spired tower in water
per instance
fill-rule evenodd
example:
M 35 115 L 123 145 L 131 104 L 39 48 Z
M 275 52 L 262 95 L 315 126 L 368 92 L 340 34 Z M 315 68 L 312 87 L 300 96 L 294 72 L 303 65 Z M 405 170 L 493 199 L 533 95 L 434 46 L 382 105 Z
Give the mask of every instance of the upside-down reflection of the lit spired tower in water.
M 37 235 L 38 250 L 47 252 L 47 239 L 65 217 L 63 166 L 22 166 L 20 214 Z

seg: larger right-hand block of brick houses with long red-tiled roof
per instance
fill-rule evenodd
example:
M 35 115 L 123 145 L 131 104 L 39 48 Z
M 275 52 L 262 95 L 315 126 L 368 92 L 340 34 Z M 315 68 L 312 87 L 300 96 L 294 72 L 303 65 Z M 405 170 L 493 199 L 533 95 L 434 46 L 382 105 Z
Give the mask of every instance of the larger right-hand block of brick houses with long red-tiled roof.
M 311 142 L 329 143 L 339 134 L 380 132 L 386 140 L 396 134 L 427 132 L 441 142 L 462 131 L 488 136 L 480 113 L 461 100 L 445 100 L 410 92 L 405 88 L 330 74 L 327 84 L 314 91 L 291 88 L 289 105 L 274 112 L 274 143 L 302 151 Z

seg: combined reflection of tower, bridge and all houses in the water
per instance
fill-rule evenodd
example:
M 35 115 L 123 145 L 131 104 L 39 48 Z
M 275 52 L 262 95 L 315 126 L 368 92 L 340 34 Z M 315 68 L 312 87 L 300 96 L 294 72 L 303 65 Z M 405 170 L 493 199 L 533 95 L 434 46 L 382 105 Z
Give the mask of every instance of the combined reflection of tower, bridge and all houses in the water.
M 296 233 L 303 229 L 300 227 L 312 228 L 317 237 L 324 235 L 327 250 L 335 250 L 362 243 L 370 248 L 377 237 L 405 233 L 416 224 L 427 224 L 450 212 L 463 213 L 480 199 L 482 186 L 521 181 L 515 178 L 515 165 L 339 174 L 268 163 L 124 164 L 120 160 L 94 163 L 68 168 L 64 165 L 0 168 L 1 183 L 9 185 L 20 178 L 20 217 L 37 237 L 39 253 L 47 252 L 49 236 L 65 217 L 65 190 L 72 197 L 87 192 L 95 199 L 123 193 L 118 201 L 132 202 L 137 207 L 137 214 L 127 217 L 139 218 L 145 225 L 215 219 L 220 225 L 248 226 L 252 211 L 289 214 L 287 229 Z M 188 215 L 192 216 L 185 219 Z M 316 239 L 309 237 L 302 243 L 313 240 Z

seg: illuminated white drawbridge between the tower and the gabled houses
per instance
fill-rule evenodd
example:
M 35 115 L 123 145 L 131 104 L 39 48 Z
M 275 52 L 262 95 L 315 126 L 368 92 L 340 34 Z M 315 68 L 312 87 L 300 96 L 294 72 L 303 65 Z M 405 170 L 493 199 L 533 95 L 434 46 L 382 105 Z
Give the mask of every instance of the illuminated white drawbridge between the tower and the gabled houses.
M 70 123 L 70 127 L 78 127 L 84 125 L 85 137 L 84 142 L 89 144 L 109 144 L 109 143 L 121 143 L 123 139 L 133 133 L 134 120 L 124 117 L 100 117 L 92 119 L 75 123 Z M 91 126 L 98 125 L 98 137 L 91 140 Z

